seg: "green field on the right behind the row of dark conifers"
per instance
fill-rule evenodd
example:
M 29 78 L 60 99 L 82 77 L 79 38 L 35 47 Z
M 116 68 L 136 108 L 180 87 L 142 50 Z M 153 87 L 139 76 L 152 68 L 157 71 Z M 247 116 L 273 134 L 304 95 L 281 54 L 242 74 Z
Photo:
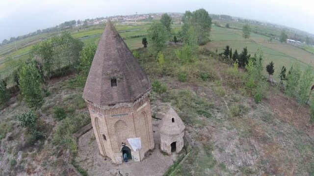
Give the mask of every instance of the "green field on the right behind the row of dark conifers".
M 289 69 L 294 62 L 300 62 L 302 69 L 305 69 L 308 65 L 314 66 L 313 53 L 293 45 L 281 44 L 274 39 L 270 43 L 268 42 L 269 37 L 264 35 L 251 33 L 250 39 L 245 40 L 240 29 L 213 26 L 210 40 L 211 42 L 205 45 L 205 47 L 214 52 L 217 49 L 218 53 L 223 52 L 226 45 L 229 45 L 233 51 L 237 50 L 238 53 L 244 47 L 247 47 L 251 55 L 261 48 L 265 56 L 264 64 L 266 65 L 270 61 L 275 63 L 274 78 L 277 80 L 282 66 Z

